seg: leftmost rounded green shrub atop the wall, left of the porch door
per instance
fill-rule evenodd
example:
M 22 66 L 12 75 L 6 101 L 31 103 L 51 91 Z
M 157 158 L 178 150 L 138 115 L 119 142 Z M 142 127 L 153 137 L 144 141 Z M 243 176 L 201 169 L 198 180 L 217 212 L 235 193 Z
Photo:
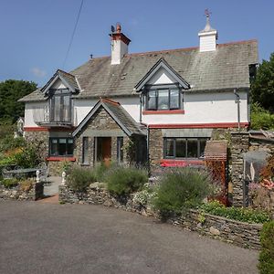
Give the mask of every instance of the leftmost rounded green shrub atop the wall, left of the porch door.
M 85 192 L 91 183 L 96 182 L 96 177 L 92 170 L 74 166 L 68 171 L 67 182 L 70 189 L 80 193 Z

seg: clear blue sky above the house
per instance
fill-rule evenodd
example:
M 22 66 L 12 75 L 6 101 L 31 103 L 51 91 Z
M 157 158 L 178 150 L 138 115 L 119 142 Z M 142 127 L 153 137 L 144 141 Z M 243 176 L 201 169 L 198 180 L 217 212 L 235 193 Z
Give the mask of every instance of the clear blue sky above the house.
M 271 0 L 84 0 L 65 66 L 81 0 L 0 0 L 0 81 L 24 79 L 38 86 L 58 68 L 69 71 L 110 56 L 111 25 L 121 23 L 129 52 L 197 47 L 205 8 L 218 43 L 258 39 L 259 61 L 274 51 Z

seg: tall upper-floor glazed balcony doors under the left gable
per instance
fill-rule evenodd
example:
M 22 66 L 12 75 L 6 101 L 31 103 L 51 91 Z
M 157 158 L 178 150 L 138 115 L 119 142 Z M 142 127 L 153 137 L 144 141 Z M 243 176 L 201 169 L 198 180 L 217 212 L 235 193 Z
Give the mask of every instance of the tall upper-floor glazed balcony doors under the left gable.
M 71 99 L 67 89 L 55 90 L 50 99 L 51 121 L 71 121 Z

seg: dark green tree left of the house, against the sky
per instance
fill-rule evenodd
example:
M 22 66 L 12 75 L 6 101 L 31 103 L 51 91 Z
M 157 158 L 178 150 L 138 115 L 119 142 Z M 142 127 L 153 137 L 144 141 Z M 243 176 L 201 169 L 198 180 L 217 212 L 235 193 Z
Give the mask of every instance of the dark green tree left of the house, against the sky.
M 17 100 L 34 90 L 37 90 L 34 82 L 15 79 L 0 82 L 0 123 L 15 122 L 18 117 L 24 116 L 24 103 Z

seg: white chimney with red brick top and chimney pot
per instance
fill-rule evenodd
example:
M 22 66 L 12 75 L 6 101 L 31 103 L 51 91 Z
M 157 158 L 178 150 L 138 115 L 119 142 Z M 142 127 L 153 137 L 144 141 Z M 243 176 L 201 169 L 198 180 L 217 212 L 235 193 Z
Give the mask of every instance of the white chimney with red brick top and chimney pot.
M 128 53 L 131 40 L 121 33 L 121 25 L 116 25 L 116 30 L 111 34 L 111 65 L 121 64 L 121 59 Z

